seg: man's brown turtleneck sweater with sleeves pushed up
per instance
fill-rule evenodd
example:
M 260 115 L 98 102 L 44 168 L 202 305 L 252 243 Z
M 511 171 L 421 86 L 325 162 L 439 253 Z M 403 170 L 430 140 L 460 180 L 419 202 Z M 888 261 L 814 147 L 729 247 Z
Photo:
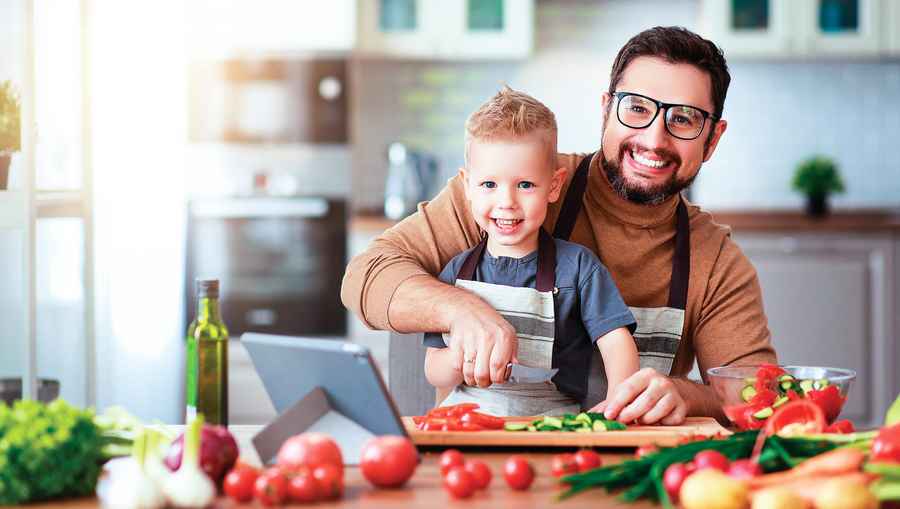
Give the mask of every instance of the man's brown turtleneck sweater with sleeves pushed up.
M 544 227 L 553 231 L 568 181 L 584 154 L 560 154 L 569 170 L 566 189 L 551 204 Z M 705 370 L 727 364 L 776 362 L 756 271 L 731 240 L 730 229 L 685 202 L 691 227 L 691 277 L 684 339 L 672 376 L 685 376 L 694 357 Z M 628 202 L 614 193 L 591 161 L 584 203 L 572 236 L 595 252 L 619 287 L 625 303 L 662 307 L 669 295 L 675 237 L 675 198 L 656 206 Z M 438 274 L 454 255 L 480 238 L 459 175 L 418 212 L 385 231 L 351 260 L 341 299 L 369 327 L 391 329 L 388 308 L 406 279 Z

